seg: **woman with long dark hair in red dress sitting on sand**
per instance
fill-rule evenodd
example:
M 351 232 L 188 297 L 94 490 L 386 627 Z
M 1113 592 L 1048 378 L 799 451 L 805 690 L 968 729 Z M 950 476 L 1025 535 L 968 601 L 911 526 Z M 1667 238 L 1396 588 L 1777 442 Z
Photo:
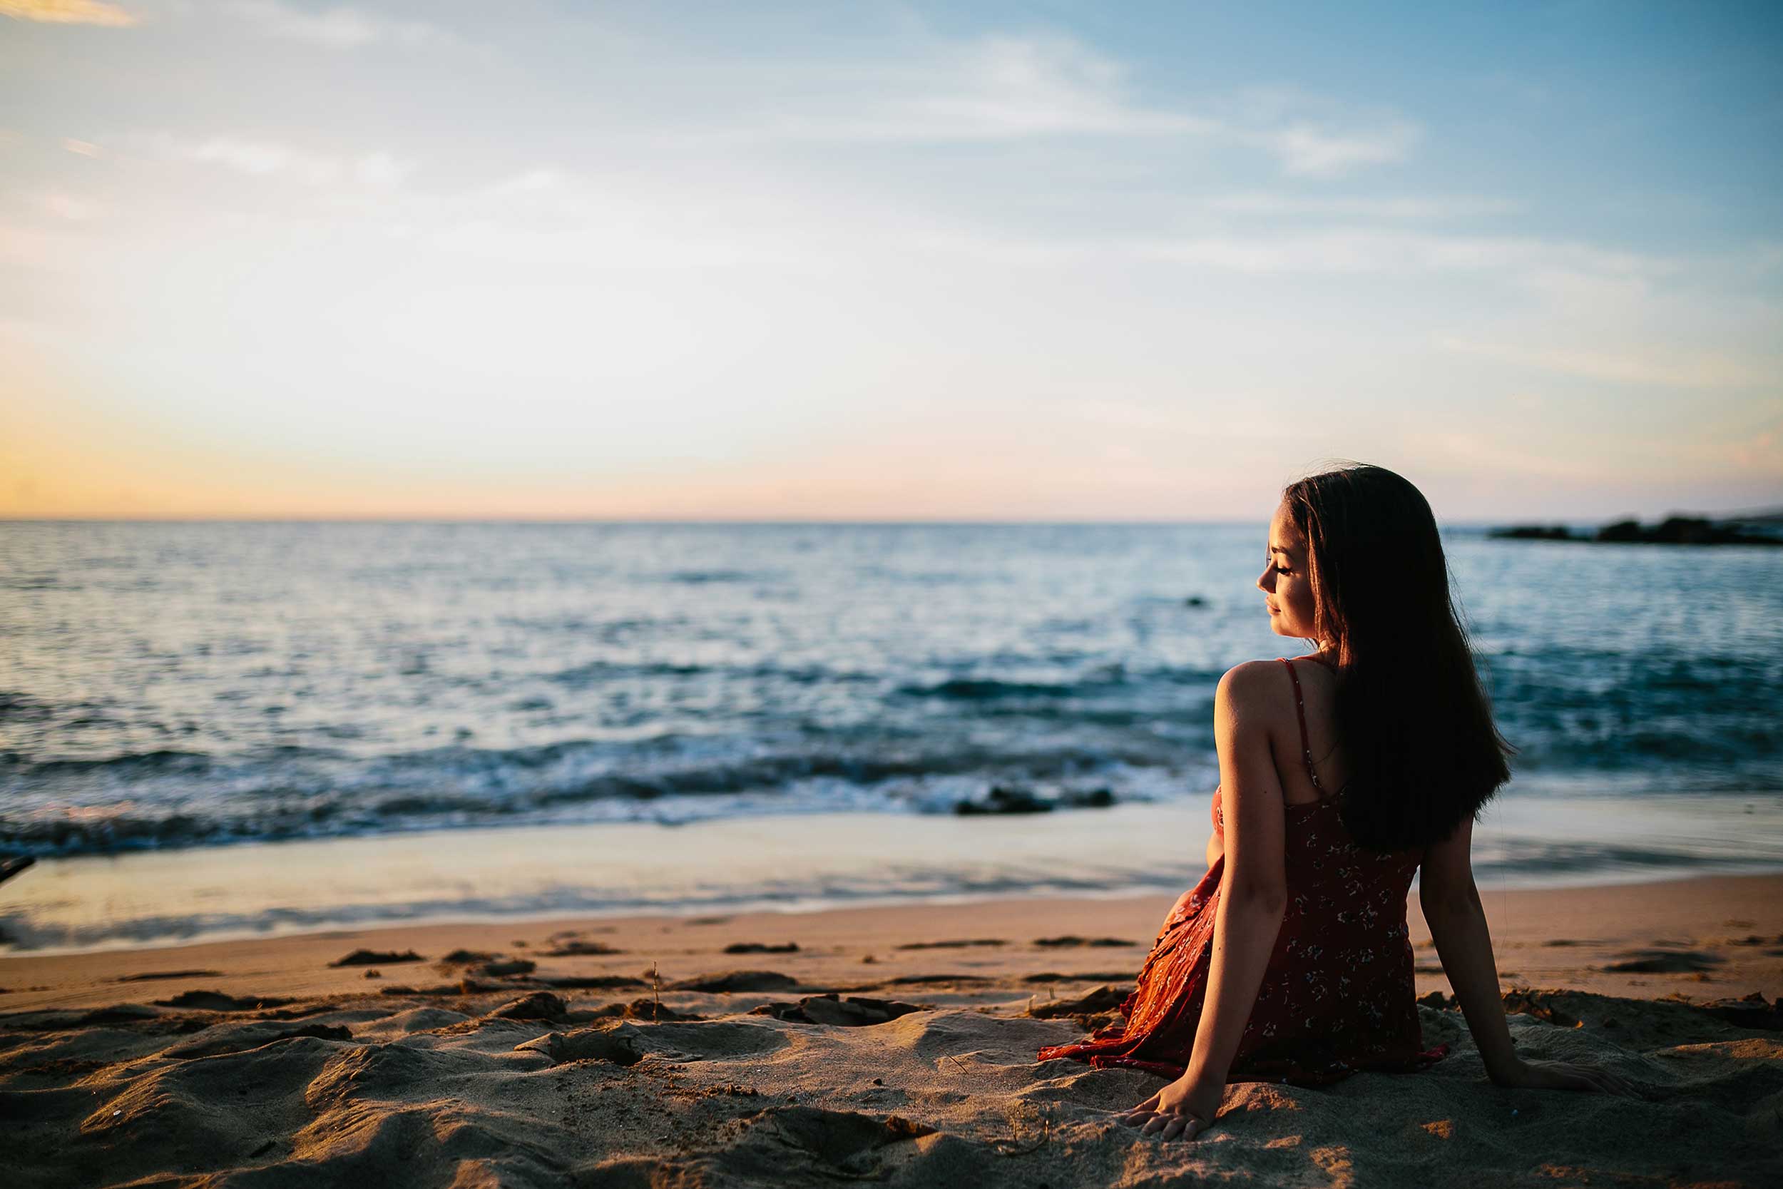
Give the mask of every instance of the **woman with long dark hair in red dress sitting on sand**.
M 1125 1021 L 1041 1061 L 1173 1078 L 1122 1116 L 1164 1139 L 1207 1130 L 1228 1080 L 1428 1066 L 1448 1046 L 1425 1050 L 1414 1000 L 1405 900 L 1423 868 L 1417 898 L 1487 1075 L 1628 1093 L 1512 1048 L 1467 850 L 1514 749 L 1450 603 L 1430 504 L 1382 467 L 1300 480 L 1257 586 L 1275 635 L 1318 651 L 1220 679 L 1207 875 L 1164 918 Z

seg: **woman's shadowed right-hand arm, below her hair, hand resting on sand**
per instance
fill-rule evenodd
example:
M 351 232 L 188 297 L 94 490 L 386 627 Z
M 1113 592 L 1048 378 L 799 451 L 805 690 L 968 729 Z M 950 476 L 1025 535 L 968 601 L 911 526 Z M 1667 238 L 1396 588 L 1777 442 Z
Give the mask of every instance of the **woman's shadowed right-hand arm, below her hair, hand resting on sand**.
M 1517 1057 L 1498 991 L 1492 934 L 1485 925 L 1480 890 L 1473 882 L 1471 852 L 1473 818 L 1466 818 L 1455 834 L 1425 850 L 1417 904 L 1425 909 L 1430 939 L 1437 943 L 1442 973 L 1455 989 L 1455 1002 L 1460 1004 L 1473 1043 L 1485 1061 L 1485 1075 L 1498 1086 L 1639 1093 L 1623 1078 L 1594 1066 Z

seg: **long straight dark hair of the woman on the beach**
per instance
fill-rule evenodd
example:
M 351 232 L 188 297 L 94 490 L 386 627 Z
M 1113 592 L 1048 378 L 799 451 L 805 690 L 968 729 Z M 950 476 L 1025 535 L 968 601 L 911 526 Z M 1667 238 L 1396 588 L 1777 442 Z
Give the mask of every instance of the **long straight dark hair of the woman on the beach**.
M 1314 631 L 1337 651 L 1343 822 L 1369 850 L 1441 841 L 1510 779 L 1517 749 L 1492 724 L 1430 503 L 1366 463 L 1289 483 L 1282 499 L 1307 538 Z

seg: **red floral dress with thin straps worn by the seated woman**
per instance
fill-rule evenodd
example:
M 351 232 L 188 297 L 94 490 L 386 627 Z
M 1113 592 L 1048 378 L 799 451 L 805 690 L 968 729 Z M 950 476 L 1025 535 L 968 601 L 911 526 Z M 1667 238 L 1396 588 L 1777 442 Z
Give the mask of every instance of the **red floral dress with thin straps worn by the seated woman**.
M 1300 674 L 1280 660 L 1294 681 L 1307 775 L 1319 788 Z M 1335 797 L 1286 809 L 1287 907 L 1227 1080 L 1316 1086 L 1359 1070 L 1421 1070 L 1448 1055 L 1448 1045 L 1425 1050 L 1417 1023 L 1405 897 L 1421 852 L 1364 850 L 1344 829 Z M 1223 831 L 1218 790 L 1212 816 Z M 1221 856 L 1164 922 L 1139 986 L 1120 1005 L 1125 1021 L 1077 1045 L 1041 1048 L 1041 1061 L 1072 1057 L 1182 1077 L 1207 996 L 1223 872 Z

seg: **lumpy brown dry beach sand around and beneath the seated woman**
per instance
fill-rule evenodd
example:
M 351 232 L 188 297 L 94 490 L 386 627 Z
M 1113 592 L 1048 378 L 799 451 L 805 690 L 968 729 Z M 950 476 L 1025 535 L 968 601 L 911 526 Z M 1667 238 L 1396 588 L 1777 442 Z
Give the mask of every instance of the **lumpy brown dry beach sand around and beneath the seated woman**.
M 0 959 L 0 1180 L 1783 1184 L 1783 877 L 1483 897 L 1519 1050 L 1646 1098 L 1487 1082 L 1416 900 L 1453 1054 L 1230 1086 L 1193 1144 L 1113 1119 L 1161 1078 L 1034 1061 L 1171 897 L 412 925 Z

